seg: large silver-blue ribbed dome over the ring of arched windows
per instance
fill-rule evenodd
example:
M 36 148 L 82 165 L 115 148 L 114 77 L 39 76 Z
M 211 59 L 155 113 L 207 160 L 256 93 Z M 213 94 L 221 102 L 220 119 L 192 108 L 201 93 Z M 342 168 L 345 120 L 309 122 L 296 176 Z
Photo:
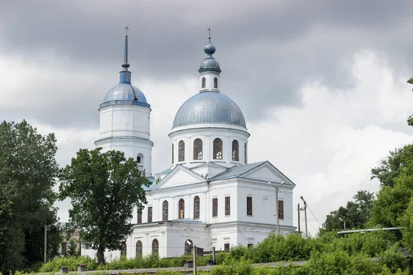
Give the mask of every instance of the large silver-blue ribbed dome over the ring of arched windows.
M 172 128 L 198 123 L 224 123 L 246 128 L 240 107 L 217 91 L 203 91 L 184 102 L 175 115 Z

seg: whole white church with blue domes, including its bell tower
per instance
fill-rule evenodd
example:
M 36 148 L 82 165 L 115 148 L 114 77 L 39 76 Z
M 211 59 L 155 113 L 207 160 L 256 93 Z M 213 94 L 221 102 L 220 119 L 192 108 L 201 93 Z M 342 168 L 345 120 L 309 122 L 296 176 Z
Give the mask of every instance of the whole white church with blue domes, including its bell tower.
M 220 91 L 221 69 L 211 38 L 198 70 L 200 90 L 182 104 L 173 120 L 171 151 L 165 156 L 171 166 L 154 175 L 151 107 L 142 91 L 131 85 L 127 52 L 126 35 L 120 83 L 100 104 L 95 144 L 137 159 L 153 184 L 145 189 L 147 204 L 134 212 L 125 249 L 105 252 L 107 261 L 120 254 L 177 256 L 190 252 L 191 245 L 204 252 L 255 245 L 276 232 L 277 209 L 280 233 L 293 232 L 295 184 L 268 161 L 248 163 L 250 134 L 240 108 Z M 275 189 L 268 183 L 282 184 L 278 208 Z M 83 250 L 89 256 L 94 253 Z

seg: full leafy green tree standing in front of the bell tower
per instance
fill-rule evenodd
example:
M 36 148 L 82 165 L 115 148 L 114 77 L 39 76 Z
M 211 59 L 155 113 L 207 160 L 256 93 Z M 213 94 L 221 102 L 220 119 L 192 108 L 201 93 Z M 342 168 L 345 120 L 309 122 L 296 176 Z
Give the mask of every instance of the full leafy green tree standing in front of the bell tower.
M 142 186 L 151 184 L 133 158 L 101 149 L 79 150 L 59 175 L 61 199 L 72 199 L 70 223 L 82 228 L 86 248 L 98 250 L 98 264 L 105 263 L 105 249 L 119 250 L 131 234 L 134 207 L 147 203 Z

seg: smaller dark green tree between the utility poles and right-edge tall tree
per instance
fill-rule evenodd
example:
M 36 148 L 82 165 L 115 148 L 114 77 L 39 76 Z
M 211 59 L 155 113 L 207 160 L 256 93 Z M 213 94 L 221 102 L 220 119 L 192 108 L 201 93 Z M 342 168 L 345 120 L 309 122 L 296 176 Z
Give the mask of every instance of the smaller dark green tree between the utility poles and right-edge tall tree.
M 372 212 L 374 193 L 360 190 L 353 196 L 354 201 L 348 201 L 346 207 L 330 212 L 320 234 L 332 230 L 343 229 L 343 222 L 346 221 L 346 228 L 364 228 Z

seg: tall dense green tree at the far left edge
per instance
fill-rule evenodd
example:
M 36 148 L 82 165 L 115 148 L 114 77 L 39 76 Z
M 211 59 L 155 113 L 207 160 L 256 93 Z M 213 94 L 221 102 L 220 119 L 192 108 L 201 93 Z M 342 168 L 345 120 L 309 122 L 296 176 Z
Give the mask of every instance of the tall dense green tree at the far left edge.
M 54 134 L 23 120 L 0 124 L 0 272 L 43 260 L 43 230 L 56 222 Z

